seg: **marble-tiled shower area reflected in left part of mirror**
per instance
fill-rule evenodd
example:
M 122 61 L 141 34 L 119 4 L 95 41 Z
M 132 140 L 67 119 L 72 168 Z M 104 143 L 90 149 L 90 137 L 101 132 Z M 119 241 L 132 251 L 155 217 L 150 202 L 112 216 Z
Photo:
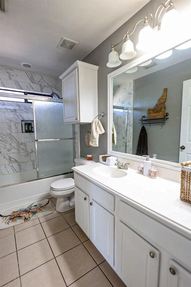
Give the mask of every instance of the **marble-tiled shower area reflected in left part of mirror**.
M 116 145 L 112 144 L 112 150 L 132 153 L 133 141 L 133 81 L 114 88 L 113 105 L 124 106 L 128 110 L 113 109 L 113 123 L 116 130 Z M 127 126 L 127 139 L 126 139 Z

